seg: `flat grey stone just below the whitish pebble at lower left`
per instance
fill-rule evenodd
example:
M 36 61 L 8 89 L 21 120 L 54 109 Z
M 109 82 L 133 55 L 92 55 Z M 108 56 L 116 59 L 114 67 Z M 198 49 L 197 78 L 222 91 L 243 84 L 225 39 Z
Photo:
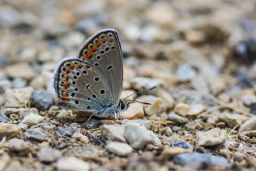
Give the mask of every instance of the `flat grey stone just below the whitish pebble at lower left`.
M 42 128 L 27 129 L 24 135 L 27 139 L 32 141 L 46 141 L 46 138 L 50 137 L 50 133 L 47 133 Z

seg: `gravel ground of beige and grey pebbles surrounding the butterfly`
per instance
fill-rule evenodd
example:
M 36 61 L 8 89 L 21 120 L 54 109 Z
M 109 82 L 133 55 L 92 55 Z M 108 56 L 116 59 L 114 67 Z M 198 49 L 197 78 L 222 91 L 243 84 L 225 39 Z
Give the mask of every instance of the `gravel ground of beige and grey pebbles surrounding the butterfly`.
M 0 2 L 0 171 L 255 170 L 254 0 Z M 122 42 L 122 124 L 62 109 L 58 62 Z

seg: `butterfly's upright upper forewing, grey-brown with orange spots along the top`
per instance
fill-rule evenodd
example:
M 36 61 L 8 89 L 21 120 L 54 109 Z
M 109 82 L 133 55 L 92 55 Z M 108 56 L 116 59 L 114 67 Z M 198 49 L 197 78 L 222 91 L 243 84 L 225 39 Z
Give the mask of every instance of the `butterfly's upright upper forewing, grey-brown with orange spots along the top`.
M 78 58 L 98 70 L 110 91 L 110 101 L 117 105 L 123 79 L 122 49 L 117 31 L 106 29 L 94 34 L 84 43 Z

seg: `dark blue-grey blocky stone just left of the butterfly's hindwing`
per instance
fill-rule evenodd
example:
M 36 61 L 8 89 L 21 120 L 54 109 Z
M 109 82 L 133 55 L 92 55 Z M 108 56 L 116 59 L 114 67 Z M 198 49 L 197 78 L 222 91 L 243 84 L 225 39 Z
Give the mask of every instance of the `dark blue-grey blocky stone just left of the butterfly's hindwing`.
M 53 103 L 53 94 L 45 90 L 34 90 L 32 92 L 32 105 L 39 110 L 47 110 Z

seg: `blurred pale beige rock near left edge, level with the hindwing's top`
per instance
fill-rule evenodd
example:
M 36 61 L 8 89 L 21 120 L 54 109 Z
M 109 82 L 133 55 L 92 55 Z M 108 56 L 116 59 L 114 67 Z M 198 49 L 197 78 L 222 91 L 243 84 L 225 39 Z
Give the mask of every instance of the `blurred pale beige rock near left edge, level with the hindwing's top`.
M 34 70 L 26 62 L 7 66 L 5 72 L 10 78 L 23 78 L 25 80 L 31 80 L 36 75 Z

